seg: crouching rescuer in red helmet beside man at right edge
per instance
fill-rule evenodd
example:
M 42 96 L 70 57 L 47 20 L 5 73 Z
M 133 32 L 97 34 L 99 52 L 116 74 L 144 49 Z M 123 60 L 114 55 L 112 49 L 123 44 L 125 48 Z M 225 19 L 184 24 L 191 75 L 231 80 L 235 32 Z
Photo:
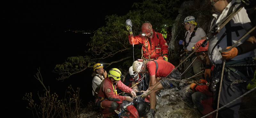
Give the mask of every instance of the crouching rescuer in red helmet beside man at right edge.
M 200 40 L 195 44 L 195 49 L 196 49 L 196 56 L 197 59 L 201 62 L 204 63 L 205 66 L 205 73 L 204 76 L 205 78 L 208 76 L 210 77 L 211 73 L 211 67 L 212 64 L 210 63 L 209 56 L 208 56 L 208 45 L 209 42 L 207 42 L 207 45 L 205 47 L 199 47 L 205 40 Z M 199 48 L 198 48 L 199 47 Z M 198 81 L 199 83 L 203 83 L 206 85 L 196 85 L 195 83 L 192 83 L 190 85 L 190 90 L 186 93 L 186 99 L 190 103 L 194 103 L 196 108 L 203 114 L 206 115 L 214 109 L 212 108 L 213 105 L 213 92 L 211 91 L 211 86 L 208 86 L 209 84 L 206 82 L 205 79 L 200 79 Z M 207 118 L 213 118 L 215 117 L 215 113 L 210 114 L 207 116 Z

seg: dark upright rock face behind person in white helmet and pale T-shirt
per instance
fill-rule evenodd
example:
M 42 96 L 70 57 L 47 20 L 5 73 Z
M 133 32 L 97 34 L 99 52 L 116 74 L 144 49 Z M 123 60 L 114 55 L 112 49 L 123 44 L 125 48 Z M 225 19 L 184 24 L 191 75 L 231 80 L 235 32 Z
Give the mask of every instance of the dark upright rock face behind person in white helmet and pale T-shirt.
M 204 32 L 207 34 L 213 18 L 209 0 L 185 1 L 181 4 L 178 12 L 179 15 L 172 25 L 172 38 L 168 44 L 168 57 L 171 57 L 174 60 L 179 58 L 180 55 L 177 54 L 180 54 L 182 48 L 178 42 L 184 40 L 185 37 L 186 29 L 182 24 L 184 19 L 187 16 L 194 16 L 196 18 L 197 27 L 204 29 Z

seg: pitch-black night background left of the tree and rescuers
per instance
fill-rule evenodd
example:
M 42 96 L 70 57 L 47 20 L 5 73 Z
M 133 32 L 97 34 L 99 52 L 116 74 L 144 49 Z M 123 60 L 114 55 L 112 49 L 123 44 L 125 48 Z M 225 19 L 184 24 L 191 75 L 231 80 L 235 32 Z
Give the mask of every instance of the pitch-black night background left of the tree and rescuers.
M 142 0 L 13 1 L 2 4 L 2 117 L 33 117 L 26 108 L 28 101 L 22 100 L 22 97 L 26 92 L 32 92 L 34 99 L 38 99 L 37 92 L 44 93 L 43 86 L 34 77 L 39 67 L 43 82 L 50 86 L 51 93 L 57 92 L 63 97 L 67 87 L 72 85 L 80 87 L 82 100 L 92 100 L 92 86 L 84 84 L 91 83 L 92 70 L 78 73 L 63 82 L 56 80 L 58 74 L 52 73 L 52 70 L 69 56 L 85 55 L 84 51 L 88 49 L 86 44 L 93 34 L 65 34 L 63 31 L 97 30 L 106 24 L 105 16 L 121 16 L 136 9 L 132 8 L 134 2 Z

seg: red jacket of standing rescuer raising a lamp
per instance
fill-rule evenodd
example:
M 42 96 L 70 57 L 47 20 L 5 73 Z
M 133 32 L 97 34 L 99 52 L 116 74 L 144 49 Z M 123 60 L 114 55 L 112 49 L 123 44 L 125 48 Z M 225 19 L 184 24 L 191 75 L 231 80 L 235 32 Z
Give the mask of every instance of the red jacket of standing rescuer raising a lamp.
M 159 39 L 157 38 L 156 34 L 158 35 Z M 133 41 L 132 41 L 132 37 L 130 35 L 128 35 L 128 40 L 129 40 L 130 44 L 142 43 L 143 44 L 143 55 L 147 59 L 148 59 L 148 54 L 149 54 L 150 59 L 157 58 L 157 59 L 164 60 L 163 57 L 161 56 L 161 51 L 163 52 L 163 56 L 166 56 L 166 57 L 168 56 L 168 45 L 167 45 L 166 41 L 164 40 L 163 35 L 161 33 L 155 32 L 155 30 L 153 30 L 152 39 L 147 38 L 147 37 L 142 37 L 141 34 L 139 34 L 138 36 L 133 36 Z

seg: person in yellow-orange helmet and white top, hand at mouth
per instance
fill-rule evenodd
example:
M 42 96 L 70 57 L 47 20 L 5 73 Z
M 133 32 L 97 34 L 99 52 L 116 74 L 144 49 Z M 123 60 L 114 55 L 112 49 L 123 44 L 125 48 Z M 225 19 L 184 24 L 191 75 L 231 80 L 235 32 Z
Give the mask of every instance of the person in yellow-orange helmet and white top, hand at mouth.
M 103 69 L 102 64 L 96 63 L 93 65 L 92 77 L 92 95 L 97 96 L 101 82 L 107 77 L 107 72 Z

